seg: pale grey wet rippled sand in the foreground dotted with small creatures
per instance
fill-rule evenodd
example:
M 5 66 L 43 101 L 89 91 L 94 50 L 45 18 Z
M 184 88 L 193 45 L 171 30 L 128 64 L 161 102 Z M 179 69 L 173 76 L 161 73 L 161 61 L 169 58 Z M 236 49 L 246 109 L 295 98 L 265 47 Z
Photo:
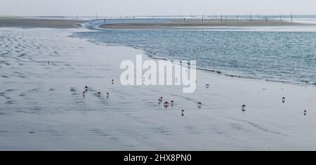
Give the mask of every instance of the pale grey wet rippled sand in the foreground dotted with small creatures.
M 316 149 L 315 86 L 202 70 L 195 93 L 122 86 L 121 61 L 151 58 L 70 37 L 86 31 L 0 28 L 0 150 Z M 174 105 L 164 107 L 160 97 Z

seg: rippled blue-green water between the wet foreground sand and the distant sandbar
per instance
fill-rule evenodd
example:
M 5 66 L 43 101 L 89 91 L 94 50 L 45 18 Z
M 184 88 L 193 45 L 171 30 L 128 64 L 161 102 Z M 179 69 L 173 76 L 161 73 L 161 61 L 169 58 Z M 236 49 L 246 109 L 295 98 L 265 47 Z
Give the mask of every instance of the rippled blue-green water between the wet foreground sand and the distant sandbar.
M 154 58 L 197 60 L 200 69 L 230 76 L 316 82 L 316 32 L 105 29 L 73 36 L 133 46 Z

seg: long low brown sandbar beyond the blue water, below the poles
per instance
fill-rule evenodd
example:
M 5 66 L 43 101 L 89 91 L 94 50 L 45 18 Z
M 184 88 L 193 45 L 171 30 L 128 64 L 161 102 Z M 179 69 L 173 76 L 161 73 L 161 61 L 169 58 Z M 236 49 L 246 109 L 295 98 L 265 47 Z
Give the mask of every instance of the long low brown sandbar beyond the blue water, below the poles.
M 280 22 L 276 20 L 171 20 L 170 22 L 150 22 L 150 23 L 118 23 L 101 25 L 104 29 L 203 29 L 211 27 L 294 27 L 307 26 L 298 22 Z

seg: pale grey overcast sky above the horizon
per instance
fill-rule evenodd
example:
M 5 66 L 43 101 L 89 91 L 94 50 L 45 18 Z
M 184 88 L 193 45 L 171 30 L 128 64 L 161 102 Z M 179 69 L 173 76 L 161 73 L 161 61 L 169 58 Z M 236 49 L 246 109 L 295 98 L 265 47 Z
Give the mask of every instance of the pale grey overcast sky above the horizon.
M 316 14 L 316 0 L 0 0 L 0 15 Z

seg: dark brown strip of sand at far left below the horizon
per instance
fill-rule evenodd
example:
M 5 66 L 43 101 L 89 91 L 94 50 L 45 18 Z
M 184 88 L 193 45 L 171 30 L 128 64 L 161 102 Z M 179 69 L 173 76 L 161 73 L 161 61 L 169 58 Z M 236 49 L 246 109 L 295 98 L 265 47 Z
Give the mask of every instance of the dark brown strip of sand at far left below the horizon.
M 15 18 L 0 17 L 0 27 L 41 27 L 41 28 L 78 28 L 80 20 L 56 20 L 56 19 L 33 19 L 33 18 Z

